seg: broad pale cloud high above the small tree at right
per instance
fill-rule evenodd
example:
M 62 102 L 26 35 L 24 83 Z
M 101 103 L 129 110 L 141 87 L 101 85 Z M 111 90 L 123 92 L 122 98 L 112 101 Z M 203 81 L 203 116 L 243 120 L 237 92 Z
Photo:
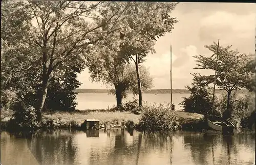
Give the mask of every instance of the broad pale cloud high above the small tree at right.
M 238 15 L 226 11 L 217 11 L 200 21 L 201 40 L 216 40 L 222 38 L 223 44 L 228 44 L 236 38 L 243 40 L 251 38 L 255 33 L 255 13 Z

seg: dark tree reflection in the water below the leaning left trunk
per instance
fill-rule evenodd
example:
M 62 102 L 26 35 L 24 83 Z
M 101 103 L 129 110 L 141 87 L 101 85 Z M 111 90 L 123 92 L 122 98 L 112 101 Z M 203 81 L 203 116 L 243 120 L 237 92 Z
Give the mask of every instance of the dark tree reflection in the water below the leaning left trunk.
M 74 164 L 77 147 L 69 131 L 42 132 L 27 146 L 39 164 Z

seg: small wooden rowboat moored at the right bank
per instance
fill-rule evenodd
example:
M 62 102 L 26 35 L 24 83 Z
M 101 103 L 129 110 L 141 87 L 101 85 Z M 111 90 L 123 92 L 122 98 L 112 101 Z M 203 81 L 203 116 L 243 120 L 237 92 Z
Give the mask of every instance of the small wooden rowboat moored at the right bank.
M 222 120 L 221 118 L 217 116 L 209 116 L 207 119 L 208 126 L 212 129 L 218 130 L 218 131 L 223 131 L 223 132 L 233 132 L 234 125 L 227 121 L 227 120 Z

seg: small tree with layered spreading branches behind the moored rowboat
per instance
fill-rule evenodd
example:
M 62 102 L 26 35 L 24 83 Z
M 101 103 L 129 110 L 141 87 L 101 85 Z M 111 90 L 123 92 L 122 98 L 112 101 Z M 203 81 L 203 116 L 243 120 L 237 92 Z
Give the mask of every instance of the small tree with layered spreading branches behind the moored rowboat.
M 214 42 L 205 46 L 213 54 L 210 57 L 203 55 L 194 56 L 197 66 L 194 69 L 208 69 L 216 71 L 216 54 L 218 45 Z M 231 45 L 226 47 L 219 46 L 218 67 L 216 85 L 227 92 L 227 106 L 223 113 L 223 118 L 230 118 L 230 95 L 233 90 L 245 88 L 250 80 L 250 73 L 246 68 L 249 58 L 246 54 L 241 54 L 238 50 L 230 50 Z M 214 82 L 215 75 L 201 76 L 202 83 L 211 84 Z

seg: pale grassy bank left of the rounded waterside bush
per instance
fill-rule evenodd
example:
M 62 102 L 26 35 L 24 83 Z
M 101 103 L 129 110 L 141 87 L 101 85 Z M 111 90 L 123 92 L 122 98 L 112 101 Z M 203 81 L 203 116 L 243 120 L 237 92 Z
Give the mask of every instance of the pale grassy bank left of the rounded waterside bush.
M 73 113 L 68 112 L 55 112 L 55 113 L 42 113 L 42 121 L 40 128 L 80 128 L 81 124 L 86 119 L 98 119 L 100 125 L 107 123 L 125 124 L 133 121 L 135 125 L 139 123 L 140 115 L 135 115 L 130 112 L 102 112 L 101 111 L 76 111 Z M 8 126 L 8 122 L 12 118 L 11 112 L 1 112 L 1 129 Z

